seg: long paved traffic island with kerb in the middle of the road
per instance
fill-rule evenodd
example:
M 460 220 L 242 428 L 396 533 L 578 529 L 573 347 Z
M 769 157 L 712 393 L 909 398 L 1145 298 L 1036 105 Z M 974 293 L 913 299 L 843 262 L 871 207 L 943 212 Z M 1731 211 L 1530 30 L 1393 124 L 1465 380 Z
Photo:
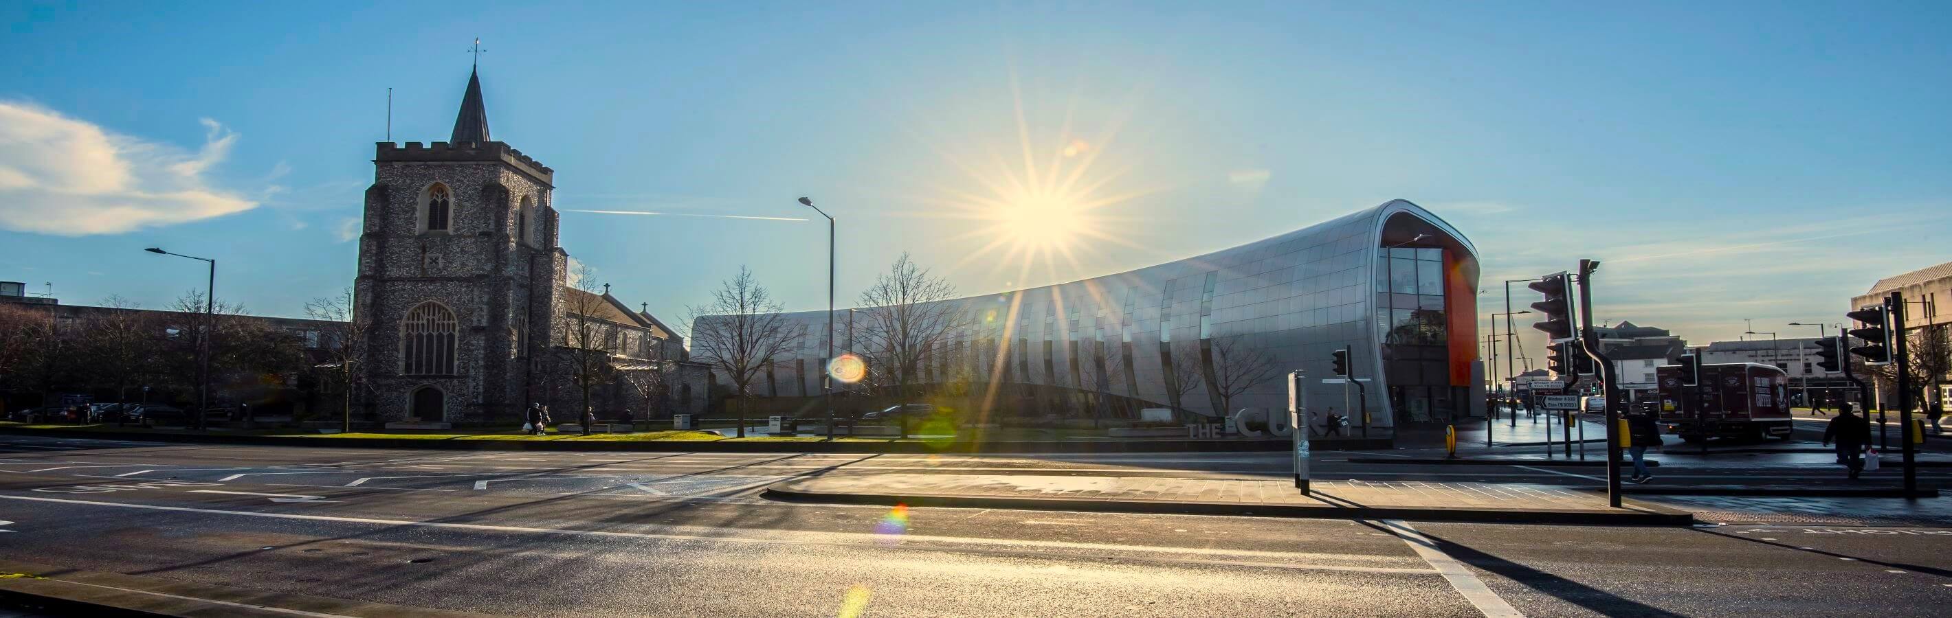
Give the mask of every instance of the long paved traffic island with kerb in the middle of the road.
M 1528 483 L 1312 482 L 1122 476 L 863 474 L 781 482 L 767 497 L 874 505 L 1204 513 L 1323 519 L 1687 524 L 1687 511 Z

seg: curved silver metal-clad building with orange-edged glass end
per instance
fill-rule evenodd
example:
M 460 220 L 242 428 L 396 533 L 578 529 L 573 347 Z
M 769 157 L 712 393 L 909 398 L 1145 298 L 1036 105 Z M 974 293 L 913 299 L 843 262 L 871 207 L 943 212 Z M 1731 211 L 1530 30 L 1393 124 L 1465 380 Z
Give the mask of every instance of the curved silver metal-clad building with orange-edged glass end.
M 1284 409 L 1284 376 L 1298 368 L 1320 425 L 1327 407 L 1359 407 L 1353 384 L 1322 380 L 1333 376 L 1331 353 L 1349 349 L 1368 411 L 1349 413 L 1353 429 L 1388 435 L 1484 413 L 1476 294 L 1470 240 L 1398 199 L 1171 263 L 947 300 L 968 312 L 966 328 L 935 347 L 923 382 L 974 374 L 997 384 L 988 406 L 997 413 L 1218 417 Z M 755 390 L 818 396 L 826 316 L 789 320 L 806 333 L 798 353 Z M 835 349 L 869 345 L 851 341 L 847 322 L 835 312 Z M 1265 372 L 1275 376 L 1255 380 Z

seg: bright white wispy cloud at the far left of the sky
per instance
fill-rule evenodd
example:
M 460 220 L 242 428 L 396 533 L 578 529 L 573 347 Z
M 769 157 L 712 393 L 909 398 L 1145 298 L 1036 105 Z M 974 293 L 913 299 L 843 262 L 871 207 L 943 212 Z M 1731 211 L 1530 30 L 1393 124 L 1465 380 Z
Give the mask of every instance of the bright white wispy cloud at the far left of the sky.
M 121 234 L 258 207 L 203 177 L 236 133 L 213 119 L 203 148 L 113 135 L 43 107 L 0 101 L 0 228 L 55 236 Z

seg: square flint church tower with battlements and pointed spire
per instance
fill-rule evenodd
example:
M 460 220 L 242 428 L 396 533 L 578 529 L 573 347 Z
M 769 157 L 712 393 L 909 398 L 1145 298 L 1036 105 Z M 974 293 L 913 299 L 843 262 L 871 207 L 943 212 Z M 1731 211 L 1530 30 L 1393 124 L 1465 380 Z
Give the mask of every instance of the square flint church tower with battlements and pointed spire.
M 488 136 L 478 70 L 449 140 L 381 142 L 373 168 L 355 279 L 365 409 L 402 425 L 519 423 L 568 263 L 554 170 Z

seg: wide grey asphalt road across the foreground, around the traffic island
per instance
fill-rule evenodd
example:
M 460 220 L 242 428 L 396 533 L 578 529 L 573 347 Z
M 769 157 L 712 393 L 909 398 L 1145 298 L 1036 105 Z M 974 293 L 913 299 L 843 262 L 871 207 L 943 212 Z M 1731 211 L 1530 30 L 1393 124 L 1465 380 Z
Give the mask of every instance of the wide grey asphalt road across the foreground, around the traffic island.
M 1587 474 L 1579 468 L 1378 470 L 1339 458 L 1322 456 L 1323 478 L 1589 483 L 1558 474 Z M 757 497 L 806 474 L 1265 478 L 1284 474 L 1281 454 L 453 452 L 0 437 L 0 470 L 4 560 L 511 616 L 1942 616 L 1952 602 L 1952 513 L 1942 526 L 1901 528 L 1601 528 L 896 513 Z M 1663 482 L 1819 482 L 1810 470 L 1718 462 L 1667 470 Z

